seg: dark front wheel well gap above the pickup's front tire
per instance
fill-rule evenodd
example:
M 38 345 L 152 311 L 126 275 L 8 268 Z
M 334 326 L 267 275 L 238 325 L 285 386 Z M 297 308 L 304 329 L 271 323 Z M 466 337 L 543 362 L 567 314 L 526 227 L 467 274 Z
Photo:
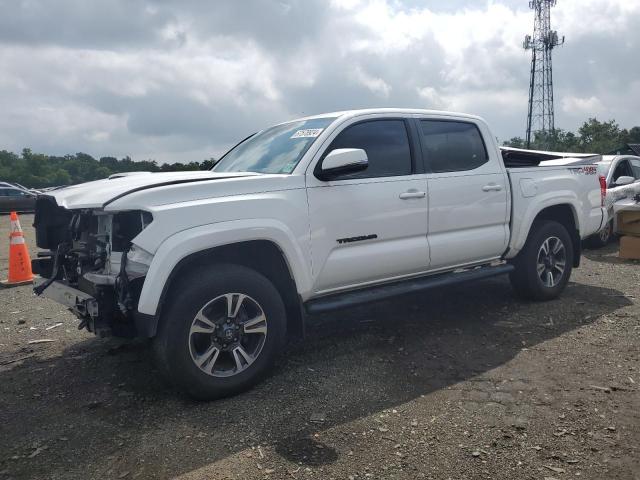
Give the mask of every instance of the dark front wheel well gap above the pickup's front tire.
M 287 311 L 287 334 L 289 337 L 304 336 L 302 307 L 295 280 L 291 275 L 284 254 L 278 246 L 269 240 L 251 240 L 247 242 L 222 245 L 183 258 L 169 275 L 160 296 L 156 319 L 159 321 L 165 301 L 170 297 L 173 287 L 180 278 L 192 271 L 195 266 L 232 263 L 251 268 L 267 277 L 276 287 Z

